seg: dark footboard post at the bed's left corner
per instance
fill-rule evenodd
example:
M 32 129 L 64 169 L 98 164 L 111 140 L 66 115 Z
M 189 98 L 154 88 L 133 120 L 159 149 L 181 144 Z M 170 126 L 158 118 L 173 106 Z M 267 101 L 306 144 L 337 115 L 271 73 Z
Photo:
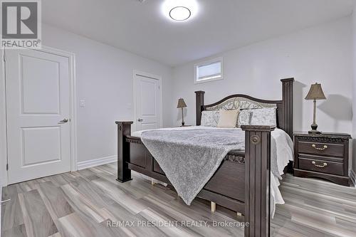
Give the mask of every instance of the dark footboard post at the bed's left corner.
M 131 180 L 131 170 L 126 161 L 130 160 L 130 143 L 125 142 L 125 137 L 131 135 L 133 122 L 115 122 L 117 124 L 117 181 L 125 183 Z

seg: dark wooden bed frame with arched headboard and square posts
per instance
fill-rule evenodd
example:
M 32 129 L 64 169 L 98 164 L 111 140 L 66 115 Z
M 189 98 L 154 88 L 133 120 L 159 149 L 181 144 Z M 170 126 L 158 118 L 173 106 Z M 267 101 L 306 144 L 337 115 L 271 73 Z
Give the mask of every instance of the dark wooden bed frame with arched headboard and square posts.
M 261 105 L 276 105 L 277 127 L 293 133 L 293 78 L 283 79 L 282 100 L 261 100 L 248 95 L 230 95 L 211 105 L 204 105 L 204 91 L 197 91 L 197 125 L 201 112 L 211 110 L 227 100 L 244 98 Z M 117 181 L 131 180 L 131 170 L 167 184 L 169 180 L 152 157 L 140 137 L 131 136 L 133 122 L 117 124 Z M 271 126 L 241 126 L 245 131 L 245 151 L 232 151 L 226 155 L 219 169 L 200 191 L 198 196 L 244 214 L 245 236 L 269 236 L 270 232 L 270 162 Z

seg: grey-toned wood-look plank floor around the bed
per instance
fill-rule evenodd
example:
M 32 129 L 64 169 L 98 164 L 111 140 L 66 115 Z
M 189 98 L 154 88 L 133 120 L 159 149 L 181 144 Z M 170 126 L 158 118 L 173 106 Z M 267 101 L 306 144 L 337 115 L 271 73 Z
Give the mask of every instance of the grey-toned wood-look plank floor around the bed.
M 140 174 L 133 172 L 125 184 L 115 174 L 112 163 L 5 187 L 2 200 L 11 201 L 1 206 L 2 236 L 244 236 L 240 227 L 214 227 L 214 221 L 243 221 L 233 211 L 216 206 L 211 213 L 201 199 L 187 206 Z M 281 192 L 286 204 L 277 206 L 272 236 L 356 236 L 355 188 L 288 175 Z M 125 227 L 116 227 L 117 221 Z M 144 226 L 164 221 L 171 225 Z

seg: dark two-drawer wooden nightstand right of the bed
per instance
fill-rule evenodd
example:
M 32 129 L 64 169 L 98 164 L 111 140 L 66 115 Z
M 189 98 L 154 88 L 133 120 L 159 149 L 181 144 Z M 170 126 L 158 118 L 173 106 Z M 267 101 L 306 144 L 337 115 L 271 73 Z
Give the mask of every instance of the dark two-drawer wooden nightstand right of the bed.
M 293 137 L 295 177 L 318 177 L 336 184 L 350 185 L 348 176 L 350 135 L 337 133 L 310 135 L 308 132 L 295 132 Z

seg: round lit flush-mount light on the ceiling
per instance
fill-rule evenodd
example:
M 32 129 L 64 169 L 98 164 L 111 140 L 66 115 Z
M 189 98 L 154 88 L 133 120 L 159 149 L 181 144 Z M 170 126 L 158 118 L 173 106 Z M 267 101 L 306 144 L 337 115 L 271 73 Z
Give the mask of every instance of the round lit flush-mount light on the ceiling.
M 162 4 L 162 13 L 171 21 L 187 21 L 197 15 L 198 4 L 195 0 L 166 0 Z

